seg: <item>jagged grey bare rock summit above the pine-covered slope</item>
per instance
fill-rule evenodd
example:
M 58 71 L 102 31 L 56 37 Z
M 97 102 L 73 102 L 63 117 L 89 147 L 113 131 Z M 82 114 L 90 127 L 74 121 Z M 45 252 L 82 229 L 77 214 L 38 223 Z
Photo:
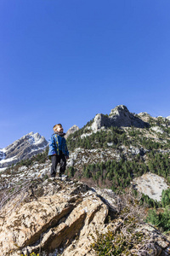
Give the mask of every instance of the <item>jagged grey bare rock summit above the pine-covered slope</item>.
M 133 113 L 130 113 L 127 107 L 119 105 L 116 108 L 111 109 L 109 116 L 98 113 L 94 118 L 94 123 L 91 128 L 93 131 L 98 131 L 101 127 L 129 127 L 134 126 L 138 128 L 148 127 L 148 123 L 144 122 L 139 117 L 135 116 Z

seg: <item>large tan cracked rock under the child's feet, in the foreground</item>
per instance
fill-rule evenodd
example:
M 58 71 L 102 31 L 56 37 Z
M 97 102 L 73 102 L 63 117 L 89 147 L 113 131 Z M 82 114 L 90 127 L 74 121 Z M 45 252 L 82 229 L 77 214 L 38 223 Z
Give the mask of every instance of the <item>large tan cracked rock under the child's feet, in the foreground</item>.
M 40 247 L 48 253 L 68 247 L 64 255 L 86 255 L 92 250 L 91 235 L 105 229 L 109 211 L 116 214 L 114 199 L 102 201 L 83 183 L 50 178 L 27 189 L 1 210 L 1 256 L 39 252 Z M 69 247 L 72 241 L 77 248 Z

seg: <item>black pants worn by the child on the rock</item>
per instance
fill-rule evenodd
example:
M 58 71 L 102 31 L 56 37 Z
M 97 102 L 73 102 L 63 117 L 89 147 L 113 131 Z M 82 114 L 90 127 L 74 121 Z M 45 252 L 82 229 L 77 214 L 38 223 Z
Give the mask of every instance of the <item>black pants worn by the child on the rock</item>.
M 51 166 L 51 177 L 55 177 L 57 165 L 60 165 L 59 176 L 65 172 L 66 159 L 65 154 L 52 155 L 51 156 L 52 166 Z

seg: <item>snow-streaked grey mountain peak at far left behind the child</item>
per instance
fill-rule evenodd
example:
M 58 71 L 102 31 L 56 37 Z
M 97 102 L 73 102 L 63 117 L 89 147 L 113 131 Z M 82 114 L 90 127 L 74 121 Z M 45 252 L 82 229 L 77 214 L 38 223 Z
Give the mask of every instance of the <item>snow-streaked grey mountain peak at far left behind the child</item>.
M 20 160 L 39 154 L 48 146 L 48 142 L 39 133 L 30 132 L 8 147 L 0 149 L 0 168 L 16 164 Z

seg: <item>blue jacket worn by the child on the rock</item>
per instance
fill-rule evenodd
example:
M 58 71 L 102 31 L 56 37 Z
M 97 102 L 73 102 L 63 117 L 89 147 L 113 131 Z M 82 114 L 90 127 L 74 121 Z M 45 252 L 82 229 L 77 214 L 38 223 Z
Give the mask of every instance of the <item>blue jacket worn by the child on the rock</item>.
M 53 154 L 65 154 L 65 156 L 69 156 L 69 151 L 66 146 L 65 137 L 59 136 L 57 133 L 54 133 L 49 139 L 49 151 L 48 157 Z

